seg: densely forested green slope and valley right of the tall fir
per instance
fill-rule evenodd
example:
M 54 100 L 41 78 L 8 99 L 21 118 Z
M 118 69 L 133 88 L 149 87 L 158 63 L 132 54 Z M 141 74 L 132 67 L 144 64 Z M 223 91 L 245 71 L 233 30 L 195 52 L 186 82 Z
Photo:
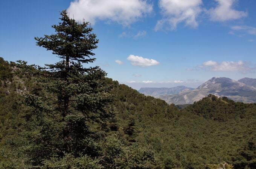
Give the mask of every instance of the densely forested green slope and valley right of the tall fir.
M 209 96 L 178 110 L 123 84 L 115 86 L 110 108 L 117 112 L 118 125 L 126 124 L 126 132 L 135 119 L 133 140 L 152 145 L 163 167 L 204 169 L 223 160 L 234 164 L 244 140 L 256 134 L 255 104 Z

